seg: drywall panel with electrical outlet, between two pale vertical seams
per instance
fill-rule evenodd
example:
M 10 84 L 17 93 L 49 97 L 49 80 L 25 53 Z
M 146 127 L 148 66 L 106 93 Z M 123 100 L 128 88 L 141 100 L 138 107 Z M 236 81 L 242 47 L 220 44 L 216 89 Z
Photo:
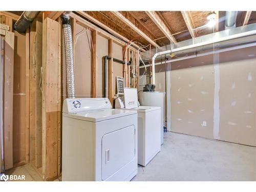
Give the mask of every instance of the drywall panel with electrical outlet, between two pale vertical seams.
M 197 62 L 197 60 L 191 61 Z M 213 137 L 214 74 L 213 66 L 171 72 L 171 130 L 178 133 Z M 206 126 L 202 126 L 206 121 Z

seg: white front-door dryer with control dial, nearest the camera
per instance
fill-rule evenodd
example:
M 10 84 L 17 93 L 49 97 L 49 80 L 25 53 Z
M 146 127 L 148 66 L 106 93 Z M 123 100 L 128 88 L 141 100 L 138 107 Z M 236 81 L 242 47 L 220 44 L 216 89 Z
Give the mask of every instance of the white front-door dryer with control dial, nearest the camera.
M 65 99 L 62 181 L 130 181 L 138 172 L 137 119 L 108 98 Z

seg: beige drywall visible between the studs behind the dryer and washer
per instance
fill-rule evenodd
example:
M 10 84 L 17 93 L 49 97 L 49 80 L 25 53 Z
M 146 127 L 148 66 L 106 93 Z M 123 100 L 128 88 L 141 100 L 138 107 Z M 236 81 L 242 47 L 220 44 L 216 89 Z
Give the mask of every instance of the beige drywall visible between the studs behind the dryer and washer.
M 76 24 L 74 28 L 74 74 L 75 74 L 75 95 L 77 98 L 90 98 L 92 95 L 92 57 L 95 49 L 92 44 L 92 31 Z M 122 60 L 122 46 L 113 42 L 114 58 Z M 62 46 L 64 53 L 65 49 Z M 103 57 L 109 54 L 109 39 L 97 34 L 96 57 L 97 57 L 97 87 L 96 97 L 103 97 L 104 60 Z M 62 99 L 67 98 L 66 91 L 66 65 L 65 55 L 62 55 Z M 109 61 L 108 61 L 109 70 Z M 116 76 L 122 76 L 123 66 L 120 63 L 113 63 L 113 94 L 116 93 Z M 107 72 L 107 75 L 109 72 Z M 108 78 L 107 78 L 108 85 Z M 108 96 L 108 88 L 107 88 Z

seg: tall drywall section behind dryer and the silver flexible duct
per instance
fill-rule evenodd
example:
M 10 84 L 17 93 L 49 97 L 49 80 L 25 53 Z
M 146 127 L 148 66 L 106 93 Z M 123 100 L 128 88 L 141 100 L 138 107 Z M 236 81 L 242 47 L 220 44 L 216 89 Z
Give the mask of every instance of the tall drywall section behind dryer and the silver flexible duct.
M 75 96 L 77 98 L 91 97 L 91 68 L 92 68 L 92 44 L 91 31 L 76 24 L 74 42 L 74 74 L 75 74 Z M 65 47 L 62 46 L 65 53 Z M 63 99 L 66 96 L 66 64 L 65 54 L 62 55 L 62 93 Z

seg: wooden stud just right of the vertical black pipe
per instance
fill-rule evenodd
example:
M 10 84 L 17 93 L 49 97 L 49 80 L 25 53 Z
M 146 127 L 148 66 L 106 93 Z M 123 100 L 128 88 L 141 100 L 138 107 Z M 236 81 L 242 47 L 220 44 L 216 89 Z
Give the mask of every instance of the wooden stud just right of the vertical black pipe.
M 109 39 L 109 56 L 111 57 L 111 59 L 109 59 L 109 100 L 113 106 L 113 39 Z

